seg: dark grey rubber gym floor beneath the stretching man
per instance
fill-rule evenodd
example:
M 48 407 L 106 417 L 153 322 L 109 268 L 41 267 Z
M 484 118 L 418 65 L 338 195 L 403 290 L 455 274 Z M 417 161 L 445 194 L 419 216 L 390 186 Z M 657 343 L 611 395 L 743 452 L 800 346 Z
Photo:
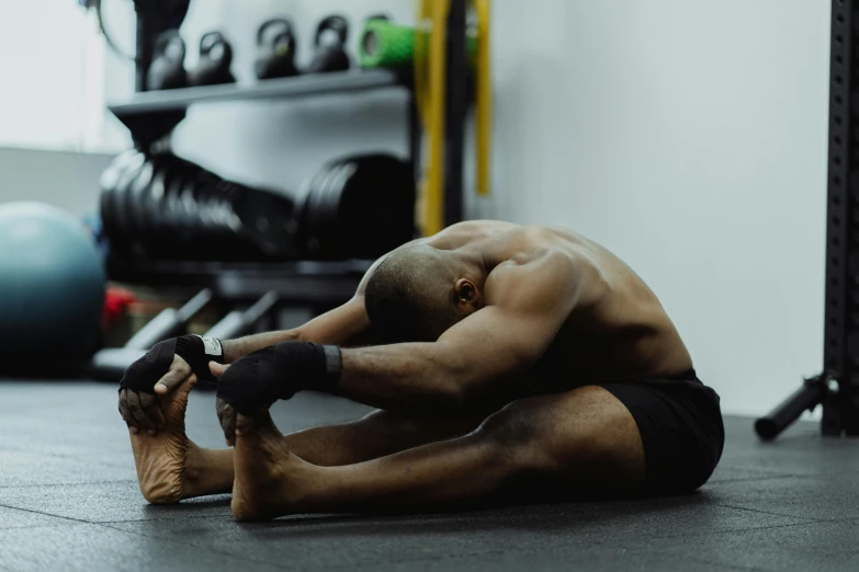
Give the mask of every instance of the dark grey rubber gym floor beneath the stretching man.
M 287 432 L 364 411 L 299 394 L 273 416 Z M 221 446 L 212 393 L 191 396 L 188 430 Z M 726 431 L 688 496 L 237 524 L 228 496 L 144 501 L 112 386 L 0 381 L 0 570 L 859 570 L 859 442 Z

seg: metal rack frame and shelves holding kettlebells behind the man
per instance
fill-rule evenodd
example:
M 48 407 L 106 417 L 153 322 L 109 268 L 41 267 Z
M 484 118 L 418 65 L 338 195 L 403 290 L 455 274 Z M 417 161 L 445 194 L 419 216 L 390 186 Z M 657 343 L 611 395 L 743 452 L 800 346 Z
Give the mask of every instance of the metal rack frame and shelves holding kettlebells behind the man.
M 168 28 L 178 27 L 168 18 L 166 5 L 173 14 L 184 14 L 190 0 L 134 0 L 137 16 L 136 93 L 109 104 L 111 112 L 131 130 L 135 146 L 146 148 L 168 135 L 185 117 L 194 104 L 224 101 L 273 100 L 304 98 L 370 90 L 404 89 L 410 96 L 408 141 L 414 172 L 420 172 L 421 126 L 409 71 L 350 70 L 264 80 L 251 85 L 225 84 L 193 87 L 147 92 L 146 75 L 152 61 L 157 37 Z M 452 0 L 448 25 L 448 94 L 445 106 L 444 224 L 463 217 L 463 124 L 471 95 L 465 45 L 466 2 Z M 184 9 L 184 12 L 182 11 Z M 247 301 L 262 291 L 276 291 L 281 301 L 313 306 L 336 306 L 346 301 L 357 288 L 369 261 L 295 262 L 295 263 L 194 263 L 170 261 L 137 261 L 112 258 L 108 263 L 111 279 L 129 284 L 211 288 L 224 301 Z M 363 270 L 361 270 L 363 268 Z

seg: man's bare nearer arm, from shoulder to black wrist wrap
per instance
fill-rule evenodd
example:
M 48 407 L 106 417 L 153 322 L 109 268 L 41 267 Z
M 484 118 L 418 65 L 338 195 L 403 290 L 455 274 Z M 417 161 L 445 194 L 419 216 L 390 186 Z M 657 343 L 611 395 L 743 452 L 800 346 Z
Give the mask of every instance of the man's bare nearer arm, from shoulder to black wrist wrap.
M 585 289 L 575 261 L 547 252 L 496 268 L 487 307 L 434 343 L 342 351 L 338 392 L 382 409 L 463 408 L 515 389 Z

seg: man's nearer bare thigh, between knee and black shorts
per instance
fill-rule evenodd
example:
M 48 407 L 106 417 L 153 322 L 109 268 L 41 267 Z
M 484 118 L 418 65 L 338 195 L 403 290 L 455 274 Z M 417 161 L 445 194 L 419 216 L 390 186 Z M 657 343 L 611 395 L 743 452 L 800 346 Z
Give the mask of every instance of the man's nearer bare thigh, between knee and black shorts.
M 574 497 L 634 494 L 645 482 L 638 427 L 608 390 L 585 386 L 515 401 L 477 430 L 523 468 L 520 482 Z

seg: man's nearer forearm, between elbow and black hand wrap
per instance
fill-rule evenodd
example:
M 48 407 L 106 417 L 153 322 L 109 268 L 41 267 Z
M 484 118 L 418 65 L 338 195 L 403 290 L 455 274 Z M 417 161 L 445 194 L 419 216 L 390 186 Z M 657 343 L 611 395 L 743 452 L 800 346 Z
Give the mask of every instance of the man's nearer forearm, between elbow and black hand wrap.
M 397 411 L 459 409 L 463 387 L 439 344 L 396 344 L 342 350 L 338 393 Z

